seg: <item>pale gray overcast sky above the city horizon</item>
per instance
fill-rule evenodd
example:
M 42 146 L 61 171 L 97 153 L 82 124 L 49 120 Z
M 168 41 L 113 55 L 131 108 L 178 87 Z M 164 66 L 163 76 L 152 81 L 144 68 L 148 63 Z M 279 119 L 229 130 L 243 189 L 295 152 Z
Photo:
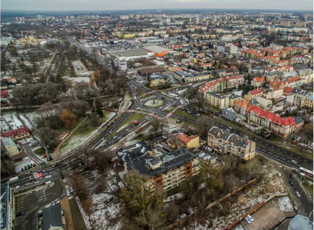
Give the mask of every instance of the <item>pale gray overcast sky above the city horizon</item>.
M 1 0 L 2 10 L 282 9 L 313 11 L 313 0 Z

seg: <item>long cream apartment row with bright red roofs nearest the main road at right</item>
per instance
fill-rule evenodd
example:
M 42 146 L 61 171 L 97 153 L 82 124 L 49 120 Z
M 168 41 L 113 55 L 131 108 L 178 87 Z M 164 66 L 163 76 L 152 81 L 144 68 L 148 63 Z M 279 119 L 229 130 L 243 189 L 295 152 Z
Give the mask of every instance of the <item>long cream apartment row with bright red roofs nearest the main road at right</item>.
M 253 122 L 258 126 L 274 131 L 279 136 L 286 137 L 295 132 L 296 122 L 290 117 L 282 118 L 278 113 L 262 109 L 260 106 L 251 105 L 246 109 L 248 123 Z

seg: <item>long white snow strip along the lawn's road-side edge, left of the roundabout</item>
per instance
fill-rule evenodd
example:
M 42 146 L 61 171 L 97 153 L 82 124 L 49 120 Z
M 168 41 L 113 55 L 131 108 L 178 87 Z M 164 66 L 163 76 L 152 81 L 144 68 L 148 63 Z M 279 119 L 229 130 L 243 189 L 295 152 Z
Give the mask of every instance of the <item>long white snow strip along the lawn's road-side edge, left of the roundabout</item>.
M 86 132 L 84 134 L 82 133 L 78 133 L 78 132 L 74 132 L 71 136 L 68 137 L 68 139 L 65 141 L 65 143 L 67 144 L 66 146 L 62 147 L 59 150 L 59 154 L 60 156 L 72 151 L 73 149 L 75 149 L 76 147 L 80 146 L 81 144 L 83 144 L 85 141 L 87 141 L 91 136 L 93 136 L 99 129 L 100 127 L 102 127 L 103 125 L 105 125 L 111 118 L 113 118 L 116 115 L 116 113 L 104 113 L 104 116 L 106 116 L 106 120 L 100 125 L 98 126 L 98 128 L 96 127 L 94 130 L 91 130 L 90 132 Z

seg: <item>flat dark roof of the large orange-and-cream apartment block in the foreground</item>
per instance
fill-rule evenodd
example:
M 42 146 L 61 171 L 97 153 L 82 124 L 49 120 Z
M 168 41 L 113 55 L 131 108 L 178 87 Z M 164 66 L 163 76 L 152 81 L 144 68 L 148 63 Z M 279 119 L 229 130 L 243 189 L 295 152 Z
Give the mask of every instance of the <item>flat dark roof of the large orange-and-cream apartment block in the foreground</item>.
M 188 161 L 197 158 L 195 154 L 186 148 L 179 148 L 174 151 L 168 152 L 159 157 L 152 157 L 149 154 L 127 160 L 127 167 L 134 170 L 139 175 L 144 177 L 151 177 L 163 172 L 168 171 L 178 165 L 182 165 Z M 152 168 L 151 165 L 160 164 L 159 167 Z

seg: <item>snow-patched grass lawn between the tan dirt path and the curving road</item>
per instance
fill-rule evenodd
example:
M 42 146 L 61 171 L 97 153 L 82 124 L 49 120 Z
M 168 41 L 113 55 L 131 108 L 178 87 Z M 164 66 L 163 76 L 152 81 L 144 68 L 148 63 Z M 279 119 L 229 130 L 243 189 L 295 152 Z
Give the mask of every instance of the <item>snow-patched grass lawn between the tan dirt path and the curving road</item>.
M 64 155 L 67 152 L 72 151 L 79 145 L 83 144 L 89 137 L 93 136 L 100 127 L 105 124 L 108 120 L 110 120 L 115 113 L 103 111 L 104 117 L 100 117 L 98 120 L 99 125 L 93 126 L 91 124 L 91 120 L 87 118 L 84 123 L 79 126 L 71 136 L 62 144 L 59 149 L 60 156 Z

